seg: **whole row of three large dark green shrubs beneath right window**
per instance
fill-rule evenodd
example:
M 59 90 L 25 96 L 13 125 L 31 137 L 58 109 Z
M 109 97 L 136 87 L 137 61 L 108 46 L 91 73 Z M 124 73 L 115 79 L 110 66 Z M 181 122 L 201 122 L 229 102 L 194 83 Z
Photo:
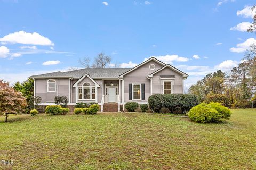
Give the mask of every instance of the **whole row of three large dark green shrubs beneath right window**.
M 196 95 L 192 94 L 155 94 L 148 98 L 149 108 L 156 113 L 159 113 L 161 108 L 167 108 L 173 113 L 176 110 L 181 110 L 186 114 L 192 107 L 199 104 Z

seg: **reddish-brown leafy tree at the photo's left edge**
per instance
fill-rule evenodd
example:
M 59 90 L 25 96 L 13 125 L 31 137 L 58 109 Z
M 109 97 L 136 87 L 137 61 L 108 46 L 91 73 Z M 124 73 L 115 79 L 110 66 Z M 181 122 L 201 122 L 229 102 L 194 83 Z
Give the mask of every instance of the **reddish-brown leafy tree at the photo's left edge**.
M 5 122 L 8 121 L 8 114 L 18 114 L 26 106 L 26 98 L 22 93 L 0 80 L 0 115 L 5 116 Z

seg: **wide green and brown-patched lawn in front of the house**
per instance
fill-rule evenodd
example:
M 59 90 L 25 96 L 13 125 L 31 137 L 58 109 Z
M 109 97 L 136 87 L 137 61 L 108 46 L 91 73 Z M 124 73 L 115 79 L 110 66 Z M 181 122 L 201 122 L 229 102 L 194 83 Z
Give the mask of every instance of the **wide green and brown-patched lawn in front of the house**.
M 0 117 L 0 169 L 256 169 L 256 109 L 225 123 L 143 113 Z

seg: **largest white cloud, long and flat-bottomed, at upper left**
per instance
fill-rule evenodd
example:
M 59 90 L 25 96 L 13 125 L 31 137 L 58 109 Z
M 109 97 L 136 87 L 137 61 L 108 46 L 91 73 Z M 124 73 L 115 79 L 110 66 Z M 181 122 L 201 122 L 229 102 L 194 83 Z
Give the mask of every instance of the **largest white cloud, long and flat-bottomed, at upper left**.
M 9 35 L 0 38 L 2 43 L 20 43 L 20 44 L 31 44 L 31 45 L 43 45 L 43 46 L 54 46 L 52 41 L 39 33 L 19 31 L 9 33 Z

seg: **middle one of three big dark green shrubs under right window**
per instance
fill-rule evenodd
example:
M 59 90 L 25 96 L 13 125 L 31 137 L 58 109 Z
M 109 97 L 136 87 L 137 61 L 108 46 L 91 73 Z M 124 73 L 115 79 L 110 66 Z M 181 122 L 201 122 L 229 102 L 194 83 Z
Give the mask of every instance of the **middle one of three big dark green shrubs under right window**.
M 180 94 L 164 94 L 163 105 L 173 113 L 181 104 Z

